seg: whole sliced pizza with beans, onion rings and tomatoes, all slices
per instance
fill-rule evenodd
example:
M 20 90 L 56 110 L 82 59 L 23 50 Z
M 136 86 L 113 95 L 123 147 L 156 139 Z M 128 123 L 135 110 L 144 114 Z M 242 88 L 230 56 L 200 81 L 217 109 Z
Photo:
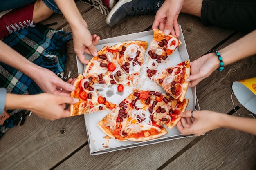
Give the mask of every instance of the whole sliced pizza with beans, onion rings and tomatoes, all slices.
M 137 89 L 148 42 L 131 40 L 104 46 L 74 82 L 76 90 L 71 96 L 79 98 L 79 102 L 71 104 L 71 115 L 107 110 L 107 115 L 97 126 L 117 141 L 148 141 L 166 135 L 167 129 L 180 121 L 180 113 L 188 105 L 189 100 L 184 97 L 190 65 L 185 61 L 162 69 L 158 63 L 166 60 L 180 44 L 180 40 L 172 35 L 165 36 L 162 31 L 154 30 L 146 75 L 162 86 L 164 93 Z M 94 89 L 98 84 L 118 85 L 118 92 L 124 91 L 124 86 L 133 87 L 133 92 L 119 104 L 114 104 Z

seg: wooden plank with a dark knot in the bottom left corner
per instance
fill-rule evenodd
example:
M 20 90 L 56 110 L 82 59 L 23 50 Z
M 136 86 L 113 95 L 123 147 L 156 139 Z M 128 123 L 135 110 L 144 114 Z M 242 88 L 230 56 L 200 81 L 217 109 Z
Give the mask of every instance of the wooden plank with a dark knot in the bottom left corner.
M 83 115 L 49 121 L 32 114 L 1 138 L 0 169 L 49 169 L 86 141 Z

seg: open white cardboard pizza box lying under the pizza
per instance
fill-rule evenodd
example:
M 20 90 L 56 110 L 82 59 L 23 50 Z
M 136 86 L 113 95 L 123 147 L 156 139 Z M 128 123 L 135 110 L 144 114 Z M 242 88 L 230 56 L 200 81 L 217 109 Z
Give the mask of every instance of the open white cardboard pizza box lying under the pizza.
M 166 59 L 168 66 L 175 66 L 182 61 L 189 60 L 189 55 L 186 50 L 186 44 L 184 41 L 181 27 L 180 27 L 180 34 L 181 35 L 179 37 L 179 40 L 182 42 L 182 44 L 178 47 L 178 49 L 174 51 L 172 55 L 168 57 L 168 59 Z M 145 31 L 140 33 L 133 33 L 129 35 L 122 35 L 119 37 L 103 39 L 103 40 L 100 40 L 95 47 L 99 51 L 101 48 L 103 48 L 103 46 L 106 46 L 106 45 L 112 46 L 119 42 L 123 42 L 127 40 L 143 40 L 143 41 L 147 41 L 149 45 L 152 38 L 153 38 L 153 31 Z M 85 54 L 85 58 L 90 60 L 92 56 Z M 146 55 L 144 58 L 145 63 L 141 67 L 140 79 L 138 81 L 137 88 L 141 90 L 149 89 L 152 91 L 162 91 L 165 94 L 164 90 L 158 84 L 156 84 L 153 81 L 150 81 L 150 79 L 146 77 L 147 58 L 148 58 L 148 49 L 146 51 Z M 78 58 L 77 58 L 77 66 L 78 66 L 78 72 L 83 74 L 83 71 L 85 70 L 86 65 L 82 64 Z M 162 62 L 159 67 L 167 68 L 167 65 L 164 62 Z M 109 87 L 94 86 L 94 88 L 97 88 L 99 94 L 106 97 L 108 101 L 116 104 L 119 104 L 123 99 L 125 99 L 133 91 L 132 88 L 125 87 L 123 92 L 118 92 L 117 85 L 112 85 Z M 185 98 L 189 99 L 187 110 L 200 110 L 198 100 L 196 97 L 195 87 L 188 88 Z M 126 149 L 126 148 L 133 148 L 137 146 L 144 146 L 148 144 L 156 144 L 159 142 L 170 141 L 173 139 L 195 136 L 195 135 L 182 135 L 177 130 L 177 127 L 175 126 L 171 130 L 166 128 L 168 130 L 168 133 L 166 135 L 159 137 L 157 139 L 149 140 L 149 141 L 124 142 L 124 141 L 116 141 L 115 139 L 105 139 L 104 137 L 106 136 L 106 134 L 99 129 L 99 127 L 97 126 L 97 123 L 101 119 L 103 119 L 103 117 L 105 117 L 107 114 L 108 114 L 107 110 L 102 110 L 95 113 L 84 115 L 91 155 L 98 155 L 98 154 L 113 152 L 113 151 Z

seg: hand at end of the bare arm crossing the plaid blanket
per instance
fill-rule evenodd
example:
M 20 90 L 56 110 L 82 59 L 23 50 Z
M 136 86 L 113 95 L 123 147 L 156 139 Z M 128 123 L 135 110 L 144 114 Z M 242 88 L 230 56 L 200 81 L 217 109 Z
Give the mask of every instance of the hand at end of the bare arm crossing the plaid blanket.
M 75 90 L 73 86 L 73 79 L 69 79 L 67 82 L 63 81 L 54 72 L 39 68 L 36 76 L 33 76 L 34 81 L 45 93 L 52 93 L 61 96 L 70 96 L 70 92 Z M 62 91 L 60 90 L 62 88 Z

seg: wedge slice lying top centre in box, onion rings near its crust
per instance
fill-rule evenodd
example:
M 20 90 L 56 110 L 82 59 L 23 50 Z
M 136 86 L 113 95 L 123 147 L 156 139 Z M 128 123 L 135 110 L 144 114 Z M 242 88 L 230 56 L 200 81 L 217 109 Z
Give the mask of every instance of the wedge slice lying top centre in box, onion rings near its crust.
M 136 86 L 139 79 L 147 46 L 146 41 L 131 40 L 109 47 L 109 51 L 116 54 L 116 60 L 121 68 L 129 75 L 132 86 Z

